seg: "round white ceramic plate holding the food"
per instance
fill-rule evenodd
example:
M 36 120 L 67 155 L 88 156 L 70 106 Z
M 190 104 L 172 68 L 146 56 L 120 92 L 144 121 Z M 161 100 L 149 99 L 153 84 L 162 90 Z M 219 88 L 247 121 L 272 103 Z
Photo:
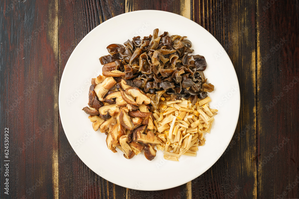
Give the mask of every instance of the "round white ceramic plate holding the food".
M 184 24 L 184 28 L 181 27 Z M 179 162 L 167 161 L 157 151 L 154 160 L 143 154 L 132 159 L 111 152 L 106 135 L 92 129 L 87 106 L 91 78 L 101 74 L 99 58 L 109 54 L 109 44 L 123 44 L 134 36 L 149 36 L 155 28 L 159 34 L 187 36 L 193 54 L 205 56 L 205 77 L 215 86 L 208 93 L 210 107 L 218 109 L 213 127 L 205 135 L 196 157 L 184 156 Z M 187 183 L 208 170 L 227 148 L 237 126 L 240 92 L 237 75 L 230 58 L 219 42 L 195 22 L 169 12 L 142 10 L 113 17 L 88 33 L 71 54 L 62 74 L 59 110 L 65 135 L 78 157 L 95 173 L 117 185 L 138 190 L 161 190 Z

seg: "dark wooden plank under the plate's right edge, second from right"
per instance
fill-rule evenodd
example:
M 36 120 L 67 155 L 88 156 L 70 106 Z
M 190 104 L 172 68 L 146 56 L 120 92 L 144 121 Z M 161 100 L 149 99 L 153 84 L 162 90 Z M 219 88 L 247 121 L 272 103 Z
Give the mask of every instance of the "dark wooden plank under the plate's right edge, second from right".
M 208 30 L 231 58 L 241 94 L 234 137 L 224 155 L 192 181 L 192 197 L 257 198 L 255 2 L 199 0 L 192 2 L 192 8 L 191 18 Z M 222 55 L 219 50 L 215 55 Z

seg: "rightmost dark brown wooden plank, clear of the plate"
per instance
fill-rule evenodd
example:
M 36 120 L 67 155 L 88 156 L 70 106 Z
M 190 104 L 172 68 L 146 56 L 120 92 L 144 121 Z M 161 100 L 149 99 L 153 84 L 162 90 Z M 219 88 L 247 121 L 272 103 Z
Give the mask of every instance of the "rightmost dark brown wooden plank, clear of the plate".
M 299 198 L 298 8 L 257 1 L 259 198 Z

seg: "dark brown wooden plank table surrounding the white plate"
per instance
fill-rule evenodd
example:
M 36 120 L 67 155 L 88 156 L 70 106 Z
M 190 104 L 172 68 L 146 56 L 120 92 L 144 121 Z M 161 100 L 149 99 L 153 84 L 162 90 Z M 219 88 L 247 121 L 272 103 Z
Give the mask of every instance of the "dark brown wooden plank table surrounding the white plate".
M 144 9 L 208 30 L 231 58 L 241 92 L 224 155 L 193 181 L 155 192 L 92 172 L 71 148 L 58 107 L 63 69 L 81 39 L 109 18 Z M 1 198 L 299 198 L 298 0 L 1 0 L 0 23 Z

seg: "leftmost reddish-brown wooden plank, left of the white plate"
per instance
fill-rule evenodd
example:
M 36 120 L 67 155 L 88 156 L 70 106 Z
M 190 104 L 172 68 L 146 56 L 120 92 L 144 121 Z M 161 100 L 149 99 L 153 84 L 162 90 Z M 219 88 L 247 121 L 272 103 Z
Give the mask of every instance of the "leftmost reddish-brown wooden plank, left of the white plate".
M 58 196 L 55 13 L 52 0 L 1 1 L 0 120 L 10 133 L 11 198 Z

